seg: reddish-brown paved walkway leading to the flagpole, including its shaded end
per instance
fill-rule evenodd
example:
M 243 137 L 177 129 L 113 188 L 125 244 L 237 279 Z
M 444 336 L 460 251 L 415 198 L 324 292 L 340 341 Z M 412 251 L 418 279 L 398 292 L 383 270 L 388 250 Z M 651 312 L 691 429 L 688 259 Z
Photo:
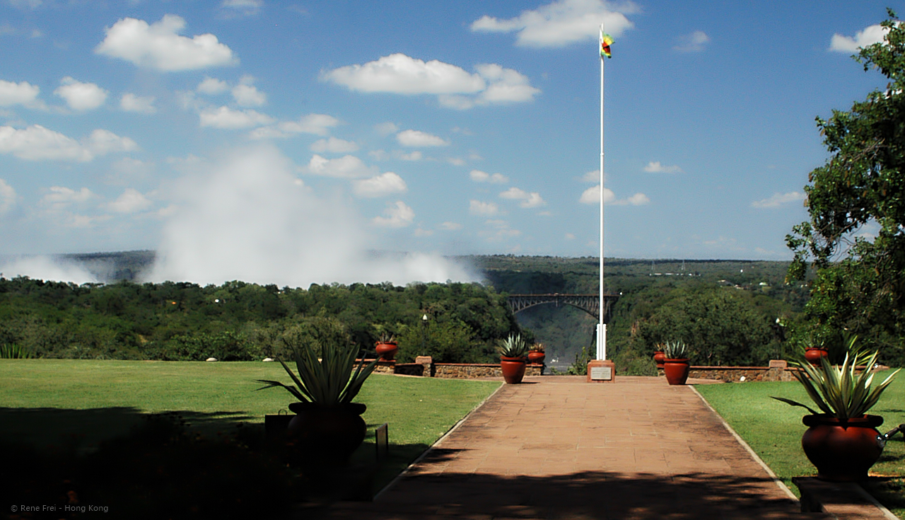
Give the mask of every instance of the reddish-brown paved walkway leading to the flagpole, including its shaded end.
M 663 378 L 504 385 L 348 519 L 823 518 L 791 499 L 689 387 Z

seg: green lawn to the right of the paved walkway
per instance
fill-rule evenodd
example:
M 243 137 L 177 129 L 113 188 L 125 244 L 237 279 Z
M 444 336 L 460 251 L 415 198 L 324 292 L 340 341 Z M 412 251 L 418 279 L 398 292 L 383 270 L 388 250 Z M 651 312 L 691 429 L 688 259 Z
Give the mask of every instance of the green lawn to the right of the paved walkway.
M 879 428 L 881 433 L 905 423 L 903 374 L 905 371 L 896 376 L 880 402 L 869 412 L 884 419 Z M 889 372 L 877 373 L 875 383 L 886 379 L 887 375 Z M 792 477 L 816 475 L 816 469 L 801 448 L 801 437 L 807 429 L 802 424 L 802 418 L 809 412 L 770 399 L 771 396 L 784 397 L 816 409 L 800 383 L 764 381 L 700 385 L 696 388 L 795 494 L 798 489 L 792 484 Z M 900 518 L 905 518 L 905 441 L 901 433 L 887 443 L 871 475 L 877 477 L 865 486 L 884 506 Z

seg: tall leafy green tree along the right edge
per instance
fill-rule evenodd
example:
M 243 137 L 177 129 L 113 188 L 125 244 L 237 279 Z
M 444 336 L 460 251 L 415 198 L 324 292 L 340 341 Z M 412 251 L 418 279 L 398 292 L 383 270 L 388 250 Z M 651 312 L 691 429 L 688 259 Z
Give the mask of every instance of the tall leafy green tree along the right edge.
M 795 253 L 789 278 L 814 267 L 805 342 L 861 335 L 887 363 L 905 364 L 905 24 L 881 23 L 884 41 L 853 58 L 889 80 L 850 111 L 817 118 L 831 153 L 805 186 L 809 219 L 786 244 Z

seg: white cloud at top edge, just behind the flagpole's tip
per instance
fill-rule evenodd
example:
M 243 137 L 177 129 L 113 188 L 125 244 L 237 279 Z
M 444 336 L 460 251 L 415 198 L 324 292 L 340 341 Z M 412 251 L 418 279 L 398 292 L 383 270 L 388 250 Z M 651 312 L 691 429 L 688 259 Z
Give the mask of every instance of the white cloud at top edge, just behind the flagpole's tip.
M 472 31 L 486 33 L 518 32 L 517 45 L 526 47 L 562 47 L 570 43 L 596 40 L 600 24 L 608 34 L 621 36 L 633 27 L 625 14 L 639 11 L 631 2 L 614 5 L 603 0 L 559 0 L 533 11 L 500 20 L 487 14 L 472 23 Z

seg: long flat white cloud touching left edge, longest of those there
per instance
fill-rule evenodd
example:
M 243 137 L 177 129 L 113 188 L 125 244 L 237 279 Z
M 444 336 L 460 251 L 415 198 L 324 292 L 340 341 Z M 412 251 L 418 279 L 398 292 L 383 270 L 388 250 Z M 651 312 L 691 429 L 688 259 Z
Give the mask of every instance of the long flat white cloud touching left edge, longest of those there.
M 25 160 L 85 162 L 110 152 L 134 149 L 138 149 L 134 140 L 119 137 L 109 130 L 94 130 L 80 142 L 41 125 L 32 125 L 24 130 L 0 127 L 0 153 Z

